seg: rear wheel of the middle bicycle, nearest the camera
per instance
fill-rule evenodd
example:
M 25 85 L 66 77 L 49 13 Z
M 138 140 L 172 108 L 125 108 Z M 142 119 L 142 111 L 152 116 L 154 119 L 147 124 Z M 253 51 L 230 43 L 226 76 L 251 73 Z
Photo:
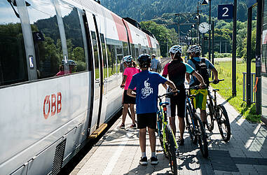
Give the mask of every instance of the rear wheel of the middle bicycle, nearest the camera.
M 207 136 L 206 132 L 203 127 L 203 123 L 200 119 L 200 116 L 198 113 L 195 113 L 195 118 L 196 118 L 196 127 L 198 128 L 197 130 L 197 136 L 198 136 L 198 144 L 200 151 L 203 155 L 204 158 L 207 158 L 209 155 L 208 149 L 207 149 Z

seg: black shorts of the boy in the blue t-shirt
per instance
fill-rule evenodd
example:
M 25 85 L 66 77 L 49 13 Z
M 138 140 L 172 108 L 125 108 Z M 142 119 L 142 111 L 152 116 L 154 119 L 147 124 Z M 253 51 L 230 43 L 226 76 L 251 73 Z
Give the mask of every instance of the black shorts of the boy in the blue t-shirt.
M 137 114 L 137 129 L 149 127 L 156 129 L 157 113 L 140 113 Z

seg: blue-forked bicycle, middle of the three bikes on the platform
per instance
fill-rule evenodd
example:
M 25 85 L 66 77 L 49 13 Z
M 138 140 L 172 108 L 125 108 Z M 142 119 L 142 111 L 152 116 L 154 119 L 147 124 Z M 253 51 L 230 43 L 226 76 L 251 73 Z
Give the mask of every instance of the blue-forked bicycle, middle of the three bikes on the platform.
M 207 135 L 202 120 L 200 119 L 200 115 L 196 113 L 196 109 L 192 102 L 196 95 L 190 95 L 188 92 L 189 90 L 198 90 L 199 88 L 199 86 L 186 88 L 186 130 L 189 131 L 193 144 L 198 143 L 203 157 L 207 158 L 209 155 Z

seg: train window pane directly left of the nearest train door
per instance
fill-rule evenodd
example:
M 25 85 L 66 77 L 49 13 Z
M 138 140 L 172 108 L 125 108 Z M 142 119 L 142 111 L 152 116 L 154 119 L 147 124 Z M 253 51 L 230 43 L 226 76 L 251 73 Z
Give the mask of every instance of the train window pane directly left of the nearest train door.
M 70 71 L 72 71 L 72 73 L 85 71 L 85 51 L 78 10 L 62 1 L 60 1 L 60 8 L 67 39 L 68 59 L 73 60 L 76 65 L 72 68 L 74 70 Z

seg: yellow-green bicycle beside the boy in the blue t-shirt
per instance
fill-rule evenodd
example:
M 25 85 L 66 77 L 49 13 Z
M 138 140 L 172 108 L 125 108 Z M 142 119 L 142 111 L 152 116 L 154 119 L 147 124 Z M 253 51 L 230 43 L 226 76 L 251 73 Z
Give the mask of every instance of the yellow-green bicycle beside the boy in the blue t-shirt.
M 167 122 L 167 105 L 169 102 L 162 102 L 162 97 L 171 96 L 173 92 L 168 92 L 166 94 L 158 96 L 158 112 L 157 112 L 157 126 L 158 126 L 158 137 L 160 140 L 160 145 L 163 148 L 163 152 L 167 158 L 169 158 L 170 168 L 172 174 L 177 174 L 177 150 L 178 144 L 175 140 L 174 134 Z

